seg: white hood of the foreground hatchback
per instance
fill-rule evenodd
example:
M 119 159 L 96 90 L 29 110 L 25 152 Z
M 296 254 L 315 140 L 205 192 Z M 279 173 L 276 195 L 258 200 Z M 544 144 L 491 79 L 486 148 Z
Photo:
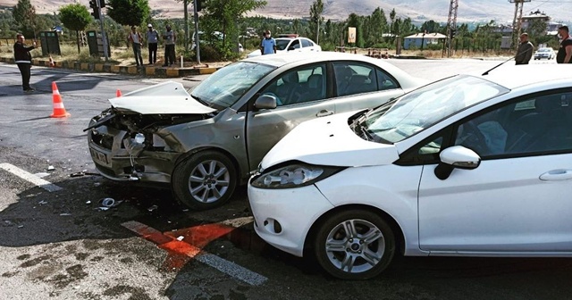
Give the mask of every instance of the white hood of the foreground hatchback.
M 349 128 L 348 119 L 355 113 L 341 113 L 299 124 L 265 155 L 262 168 L 288 161 L 340 167 L 397 161 L 400 156 L 395 146 L 366 141 Z

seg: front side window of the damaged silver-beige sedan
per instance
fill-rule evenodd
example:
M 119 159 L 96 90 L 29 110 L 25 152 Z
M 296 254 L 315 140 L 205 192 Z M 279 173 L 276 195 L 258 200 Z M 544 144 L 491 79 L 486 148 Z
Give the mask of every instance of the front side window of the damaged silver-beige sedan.
M 275 96 L 277 106 L 325 99 L 325 64 L 314 64 L 286 71 L 273 79 L 260 92 L 260 95 Z

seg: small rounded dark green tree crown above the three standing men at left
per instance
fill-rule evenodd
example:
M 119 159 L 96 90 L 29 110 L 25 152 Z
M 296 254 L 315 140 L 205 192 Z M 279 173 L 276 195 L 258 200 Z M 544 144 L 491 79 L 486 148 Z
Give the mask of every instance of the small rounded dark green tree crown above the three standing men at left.
M 109 0 L 106 7 L 107 15 L 122 25 L 139 26 L 151 15 L 148 0 Z

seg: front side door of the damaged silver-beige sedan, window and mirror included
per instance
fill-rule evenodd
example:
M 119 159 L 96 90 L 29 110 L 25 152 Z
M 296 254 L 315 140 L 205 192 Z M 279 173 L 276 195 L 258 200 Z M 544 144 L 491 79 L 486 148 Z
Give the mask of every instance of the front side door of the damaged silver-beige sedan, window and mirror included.
M 276 97 L 277 107 L 253 108 L 248 112 L 246 134 L 250 170 L 256 170 L 264 155 L 299 123 L 335 112 L 327 90 L 326 65 L 315 63 L 283 72 L 257 93 L 257 96 Z

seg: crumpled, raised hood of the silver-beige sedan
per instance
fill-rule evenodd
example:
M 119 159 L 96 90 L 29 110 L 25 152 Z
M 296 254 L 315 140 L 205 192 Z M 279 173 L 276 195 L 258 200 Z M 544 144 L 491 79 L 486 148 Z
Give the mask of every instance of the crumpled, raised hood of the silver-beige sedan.
M 109 102 L 119 112 L 141 114 L 204 114 L 216 111 L 199 103 L 187 93 L 181 83 L 173 81 L 143 87 L 109 99 Z

